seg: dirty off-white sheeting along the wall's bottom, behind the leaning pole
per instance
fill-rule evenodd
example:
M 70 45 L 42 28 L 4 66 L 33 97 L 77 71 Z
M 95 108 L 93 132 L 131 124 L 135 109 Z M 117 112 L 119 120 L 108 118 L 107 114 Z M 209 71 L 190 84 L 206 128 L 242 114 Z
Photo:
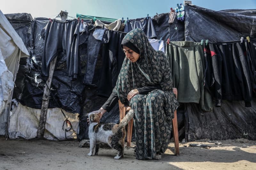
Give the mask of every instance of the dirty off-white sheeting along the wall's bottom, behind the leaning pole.
M 10 118 L 10 127 L 8 130 L 10 139 L 16 139 L 19 137 L 25 139 L 36 138 L 40 113 L 41 109 L 33 109 L 18 104 L 18 106 L 12 110 Z M 68 113 L 65 111 L 64 114 L 71 122 L 72 128 L 76 131 L 79 122 L 79 114 Z M 48 109 L 44 137 L 49 140 L 59 141 L 76 139 L 76 134 L 73 130 L 66 132 L 65 135 L 65 129 L 70 129 L 70 125 L 65 122 L 63 130 L 62 126 L 64 121 L 65 118 L 62 115 L 60 108 Z

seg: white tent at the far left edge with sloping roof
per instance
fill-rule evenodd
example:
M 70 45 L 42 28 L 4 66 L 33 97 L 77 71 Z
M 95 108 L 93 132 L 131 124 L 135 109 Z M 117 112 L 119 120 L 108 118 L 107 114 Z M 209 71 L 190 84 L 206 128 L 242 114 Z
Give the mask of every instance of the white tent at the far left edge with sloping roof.
M 0 126 L 6 126 L 20 58 L 29 53 L 20 36 L 0 11 Z M 5 133 L 5 132 L 2 132 Z

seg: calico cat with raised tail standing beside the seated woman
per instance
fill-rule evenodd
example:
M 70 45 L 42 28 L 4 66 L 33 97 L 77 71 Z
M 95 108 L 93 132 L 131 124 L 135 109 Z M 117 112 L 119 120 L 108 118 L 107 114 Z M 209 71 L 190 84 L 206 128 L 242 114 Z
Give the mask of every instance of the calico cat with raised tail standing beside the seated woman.
M 100 113 L 99 113 L 100 114 Z M 126 135 L 125 125 L 133 118 L 134 112 L 131 109 L 119 123 L 102 123 L 98 114 L 89 113 L 89 138 L 90 138 L 90 153 L 92 156 L 93 149 L 98 155 L 100 142 L 107 143 L 111 148 L 117 150 L 115 159 L 120 159 L 124 152 L 124 137 Z

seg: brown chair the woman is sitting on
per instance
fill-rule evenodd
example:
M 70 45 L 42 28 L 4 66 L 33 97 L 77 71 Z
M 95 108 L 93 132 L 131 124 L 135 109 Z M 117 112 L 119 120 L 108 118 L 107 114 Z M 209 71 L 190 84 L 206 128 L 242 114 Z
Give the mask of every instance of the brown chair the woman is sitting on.
M 177 89 L 173 88 L 173 93 L 178 95 Z M 120 100 L 118 100 L 119 104 L 119 112 L 120 112 L 120 122 L 124 118 L 127 111 L 131 109 L 130 106 L 124 106 L 124 104 L 121 103 Z M 127 146 L 131 146 L 132 141 L 132 125 L 133 125 L 133 119 L 128 123 L 127 128 Z M 178 122 L 177 122 L 177 111 L 174 111 L 174 118 L 172 119 L 172 128 L 173 128 L 173 139 L 174 139 L 174 148 L 175 148 L 175 155 L 180 155 L 180 147 L 179 147 L 179 134 L 178 134 Z

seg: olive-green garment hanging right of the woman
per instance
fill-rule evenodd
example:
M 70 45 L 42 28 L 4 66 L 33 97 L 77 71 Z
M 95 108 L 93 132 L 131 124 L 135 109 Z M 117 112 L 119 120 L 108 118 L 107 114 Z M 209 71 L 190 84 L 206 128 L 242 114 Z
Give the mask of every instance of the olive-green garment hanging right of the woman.
M 167 44 L 167 57 L 172 70 L 173 87 L 181 103 L 199 103 L 204 112 L 212 111 L 212 97 L 204 88 L 204 52 L 202 45 L 191 41 Z

